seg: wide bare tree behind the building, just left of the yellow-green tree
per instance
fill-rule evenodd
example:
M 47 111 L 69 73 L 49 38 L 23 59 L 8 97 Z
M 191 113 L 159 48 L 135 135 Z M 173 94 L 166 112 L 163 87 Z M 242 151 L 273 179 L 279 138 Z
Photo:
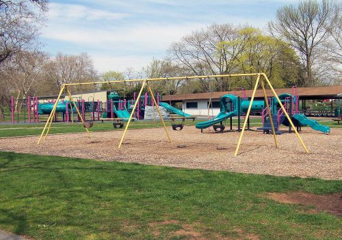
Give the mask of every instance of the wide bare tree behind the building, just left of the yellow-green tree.
M 187 67 L 192 75 L 225 75 L 237 67 L 235 59 L 244 49 L 244 42 L 239 42 L 237 27 L 229 24 L 211 25 L 185 36 L 180 42 L 174 42 L 168 53 L 169 58 L 179 65 Z M 233 45 L 218 47 L 220 42 L 235 42 Z M 211 89 L 209 81 L 200 79 L 202 88 L 225 91 L 226 78 L 216 78 L 216 89 Z

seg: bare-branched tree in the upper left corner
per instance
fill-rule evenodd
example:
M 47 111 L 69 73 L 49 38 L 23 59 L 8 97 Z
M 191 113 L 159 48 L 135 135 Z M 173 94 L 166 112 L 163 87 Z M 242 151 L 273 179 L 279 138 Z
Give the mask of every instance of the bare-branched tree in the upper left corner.
M 45 11 L 47 0 L 0 0 L 0 119 L 14 86 L 5 66 L 11 65 L 16 55 L 37 49 Z

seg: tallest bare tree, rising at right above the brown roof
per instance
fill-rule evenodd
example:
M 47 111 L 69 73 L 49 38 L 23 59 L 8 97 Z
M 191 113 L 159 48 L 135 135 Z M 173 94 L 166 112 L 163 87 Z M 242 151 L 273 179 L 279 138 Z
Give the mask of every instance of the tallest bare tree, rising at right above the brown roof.
M 295 5 L 287 5 L 278 10 L 276 21 L 269 23 L 269 31 L 284 38 L 295 48 L 302 58 L 306 70 L 306 87 L 315 85 L 313 66 L 324 44 L 334 28 L 339 16 L 339 7 L 330 0 L 304 0 Z

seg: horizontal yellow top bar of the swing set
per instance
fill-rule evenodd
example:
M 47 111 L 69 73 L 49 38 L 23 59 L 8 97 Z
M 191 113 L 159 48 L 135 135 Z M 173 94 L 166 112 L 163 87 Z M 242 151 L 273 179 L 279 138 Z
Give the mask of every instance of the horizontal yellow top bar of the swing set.
M 90 84 L 104 84 L 104 83 L 130 83 L 134 81 L 163 81 L 163 80 L 181 80 L 181 79 L 203 79 L 213 77 L 246 77 L 246 76 L 259 76 L 265 75 L 265 73 L 244 73 L 244 74 L 227 74 L 227 75 L 207 75 L 207 76 L 189 76 L 189 77 L 160 77 L 156 79 L 128 79 L 118 81 L 94 81 L 88 83 L 66 83 L 66 86 L 72 85 L 90 85 Z

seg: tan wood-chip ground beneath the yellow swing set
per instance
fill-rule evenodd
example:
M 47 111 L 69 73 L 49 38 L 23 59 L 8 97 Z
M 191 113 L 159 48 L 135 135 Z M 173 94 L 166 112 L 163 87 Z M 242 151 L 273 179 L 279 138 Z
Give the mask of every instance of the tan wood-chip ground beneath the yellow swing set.
M 309 154 L 304 153 L 294 134 L 278 136 L 280 149 L 274 146 L 272 135 L 248 131 L 244 135 L 240 155 L 233 157 L 239 133 L 200 133 L 194 126 L 172 131 L 173 142 L 166 141 L 162 128 L 130 130 L 118 149 L 122 131 L 51 135 L 38 146 L 38 137 L 0 139 L 0 150 L 60 155 L 103 161 L 123 161 L 176 168 L 229 170 L 276 176 L 300 176 L 342 179 L 342 129 L 332 129 L 330 135 L 304 128 L 301 136 Z

